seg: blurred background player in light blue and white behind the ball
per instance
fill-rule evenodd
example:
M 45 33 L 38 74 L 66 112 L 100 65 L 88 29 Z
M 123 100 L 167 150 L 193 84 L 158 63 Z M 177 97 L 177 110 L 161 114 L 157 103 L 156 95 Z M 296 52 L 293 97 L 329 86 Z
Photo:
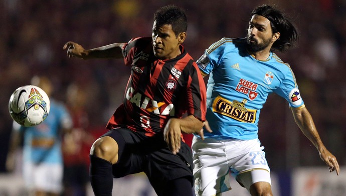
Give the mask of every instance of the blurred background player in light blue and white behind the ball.
M 9 171 L 14 170 L 15 152 L 23 139 L 23 177 L 30 195 L 60 195 L 63 190 L 61 138 L 72 128 L 71 117 L 66 107 L 54 100 L 49 78 L 35 76 L 32 84 L 49 96 L 50 113 L 37 126 L 23 127 L 14 122 L 6 166 Z

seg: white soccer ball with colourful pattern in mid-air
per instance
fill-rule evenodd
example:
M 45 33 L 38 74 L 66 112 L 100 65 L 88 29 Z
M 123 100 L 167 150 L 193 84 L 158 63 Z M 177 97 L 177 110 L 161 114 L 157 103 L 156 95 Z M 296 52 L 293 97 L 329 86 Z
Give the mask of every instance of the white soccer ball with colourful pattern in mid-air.
M 47 118 L 50 108 L 47 93 L 38 86 L 19 87 L 10 97 L 10 115 L 14 121 L 25 127 L 41 124 Z

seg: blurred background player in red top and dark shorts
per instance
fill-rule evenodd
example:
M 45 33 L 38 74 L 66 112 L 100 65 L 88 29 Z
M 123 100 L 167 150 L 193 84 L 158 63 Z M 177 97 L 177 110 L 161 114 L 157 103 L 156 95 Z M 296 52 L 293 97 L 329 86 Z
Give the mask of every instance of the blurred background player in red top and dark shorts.
M 85 88 L 71 83 L 67 88 L 67 106 L 73 128 L 64 134 L 64 196 L 84 196 L 89 182 L 89 151 L 95 137 L 89 131 L 89 118 L 85 111 Z

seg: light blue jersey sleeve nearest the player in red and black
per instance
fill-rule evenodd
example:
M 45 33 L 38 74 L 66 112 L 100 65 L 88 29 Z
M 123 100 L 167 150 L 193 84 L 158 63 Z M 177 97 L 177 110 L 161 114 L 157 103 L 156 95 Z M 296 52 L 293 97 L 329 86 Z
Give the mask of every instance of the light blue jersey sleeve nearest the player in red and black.
M 200 70 L 208 75 L 218 66 L 221 61 L 228 43 L 232 42 L 231 38 L 222 38 L 213 43 L 204 54 L 196 61 Z

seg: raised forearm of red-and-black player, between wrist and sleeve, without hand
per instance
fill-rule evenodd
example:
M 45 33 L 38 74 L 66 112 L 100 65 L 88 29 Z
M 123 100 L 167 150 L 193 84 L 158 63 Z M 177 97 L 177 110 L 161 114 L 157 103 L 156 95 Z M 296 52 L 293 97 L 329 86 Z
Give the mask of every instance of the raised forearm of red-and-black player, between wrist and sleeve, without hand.
M 124 43 L 109 44 L 90 50 L 85 50 L 85 59 L 92 58 L 123 58 L 122 46 Z M 83 55 L 84 56 L 84 55 Z

